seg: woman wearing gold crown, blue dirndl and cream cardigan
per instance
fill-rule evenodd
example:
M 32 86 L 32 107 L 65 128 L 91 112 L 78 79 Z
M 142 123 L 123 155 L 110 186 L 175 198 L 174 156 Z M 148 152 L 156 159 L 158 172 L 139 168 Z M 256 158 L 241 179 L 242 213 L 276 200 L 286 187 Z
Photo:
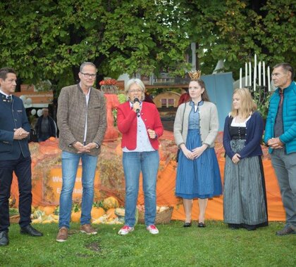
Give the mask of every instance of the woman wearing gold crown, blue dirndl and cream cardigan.
M 183 198 L 184 227 L 192 225 L 192 200 L 198 198 L 198 227 L 205 227 L 209 197 L 222 194 L 221 176 L 214 141 L 218 133 L 218 112 L 211 103 L 200 71 L 190 72 L 190 102 L 179 106 L 175 115 L 174 137 L 180 148 L 175 195 Z

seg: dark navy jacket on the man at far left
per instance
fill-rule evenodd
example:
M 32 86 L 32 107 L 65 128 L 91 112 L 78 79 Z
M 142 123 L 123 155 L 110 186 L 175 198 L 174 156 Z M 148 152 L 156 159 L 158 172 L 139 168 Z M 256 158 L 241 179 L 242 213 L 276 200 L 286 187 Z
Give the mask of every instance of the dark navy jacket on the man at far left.
M 13 129 L 20 127 L 30 132 L 23 101 L 17 96 L 12 96 L 12 101 L 8 102 L 6 96 L 0 93 L 0 160 L 18 159 L 20 153 L 24 157 L 30 156 L 28 138 L 13 139 Z

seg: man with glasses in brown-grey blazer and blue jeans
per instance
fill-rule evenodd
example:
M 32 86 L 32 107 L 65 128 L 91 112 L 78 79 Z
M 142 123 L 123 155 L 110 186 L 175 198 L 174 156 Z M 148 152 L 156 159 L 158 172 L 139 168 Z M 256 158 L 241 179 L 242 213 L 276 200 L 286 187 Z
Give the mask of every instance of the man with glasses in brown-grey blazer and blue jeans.
M 58 235 L 56 241 L 68 237 L 72 209 L 72 193 L 78 164 L 82 162 L 82 212 L 80 231 L 94 235 L 90 225 L 94 198 L 94 175 L 101 143 L 106 131 L 104 94 L 94 89 L 97 67 L 90 62 L 80 66 L 79 84 L 64 87 L 58 97 L 59 147 L 62 151 L 63 185 L 60 197 Z

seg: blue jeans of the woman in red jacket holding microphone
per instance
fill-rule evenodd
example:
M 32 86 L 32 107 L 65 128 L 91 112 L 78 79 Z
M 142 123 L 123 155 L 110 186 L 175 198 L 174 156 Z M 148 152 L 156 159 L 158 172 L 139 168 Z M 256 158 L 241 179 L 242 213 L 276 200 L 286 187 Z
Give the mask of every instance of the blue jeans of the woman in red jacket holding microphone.
M 125 225 L 135 226 L 135 210 L 139 193 L 140 171 L 143 177 L 145 224 L 154 224 L 156 216 L 156 178 L 159 152 L 123 152 L 125 176 Z

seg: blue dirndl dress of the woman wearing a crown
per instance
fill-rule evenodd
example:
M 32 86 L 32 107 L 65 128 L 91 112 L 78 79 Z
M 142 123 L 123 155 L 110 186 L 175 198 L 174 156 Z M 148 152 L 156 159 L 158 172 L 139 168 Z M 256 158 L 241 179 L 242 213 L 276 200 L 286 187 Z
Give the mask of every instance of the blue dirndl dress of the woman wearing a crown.
M 203 102 L 199 103 L 202 105 Z M 190 105 L 194 105 L 193 102 Z M 189 115 L 186 148 L 202 146 L 199 133 L 199 112 L 192 107 Z M 188 200 L 222 195 L 221 175 L 214 148 L 206 148 L 197 159 L 187 159 L 180 150 L 175 195 Z

